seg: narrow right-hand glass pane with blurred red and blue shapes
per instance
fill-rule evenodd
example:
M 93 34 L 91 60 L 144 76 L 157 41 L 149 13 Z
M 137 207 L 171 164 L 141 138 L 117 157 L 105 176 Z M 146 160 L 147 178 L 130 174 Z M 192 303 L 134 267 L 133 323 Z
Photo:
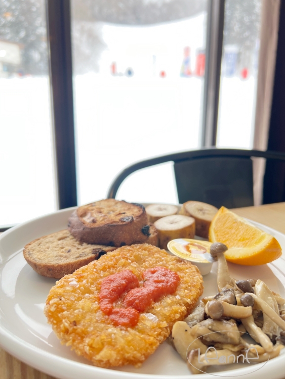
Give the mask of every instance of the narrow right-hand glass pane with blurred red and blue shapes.
M 217 146 L 253 145 L 262 0 L 226 0 Z

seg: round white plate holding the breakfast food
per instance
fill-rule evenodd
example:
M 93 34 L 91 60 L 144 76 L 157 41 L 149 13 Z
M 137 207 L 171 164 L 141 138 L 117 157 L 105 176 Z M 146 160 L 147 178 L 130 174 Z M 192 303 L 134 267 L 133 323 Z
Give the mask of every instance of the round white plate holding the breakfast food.
M 66 228 L 74 208 L 58 211 L 14 227 L 0 236 L 0 344 L 21 361 L 60 379 L 160 379 L 189 378 L 186 364 L 167 343 L 162 344 L 143 365 L 136 369 L 125 366 L 104 369 L 92 366 L 85 358 L 78 357 L 69 347 L 62 346 L 47 324 L 43 309 L 46 297 L 55 279 L 38 275 L 26 263 L 22 250 L 25 244 L 39 236 Z M 285 235 L 264 225 L 253 222 L 275 236 L 285 251 Z M 229 264 L 235 278 L 249 277 L 264 280 L 270 289 L 285 296 L 285 260 L 282 256 L 263 266 L 239 266 Z M 210 274 L 204 276 L 203 296 L 216 293 L 216 263 Z M 285 349 L 284 349 L 285 350 Z M 219 377 L 240 376 L 260 379 L 284 376 L 284 356 L 269 360 L 265 365 L 224 366 L 215 372 Z M 234 369 L 233 369 L 234 368 Z M 256 372 L 256 370 L 258 372 Z M 216 370 L 217 371 L 217 370 Z M 253 372 L 254 371 L 254 372 Z M 213 378 L 201 374 L 201 378 Z

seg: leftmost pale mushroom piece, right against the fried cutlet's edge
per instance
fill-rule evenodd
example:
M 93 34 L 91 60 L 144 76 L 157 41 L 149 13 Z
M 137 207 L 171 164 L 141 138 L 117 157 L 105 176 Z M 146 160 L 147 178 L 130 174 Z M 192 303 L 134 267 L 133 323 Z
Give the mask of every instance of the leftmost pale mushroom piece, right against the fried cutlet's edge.
M 187 353 L 191 349 L 200 349 L 201 353 L 205 353 L 205 346 L 199 339 L 191 335 L 191 329 L 185 321 L 177 321 L 172 329 L 172 341 L 175 349 L 181 357 L 187 361 Z

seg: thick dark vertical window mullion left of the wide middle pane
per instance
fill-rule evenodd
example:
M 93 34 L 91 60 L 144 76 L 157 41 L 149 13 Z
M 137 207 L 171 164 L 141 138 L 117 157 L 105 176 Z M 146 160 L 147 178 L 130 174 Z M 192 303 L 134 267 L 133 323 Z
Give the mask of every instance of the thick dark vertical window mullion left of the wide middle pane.
M 69 0 L 47 0 L 59 209 L 77 205 Z

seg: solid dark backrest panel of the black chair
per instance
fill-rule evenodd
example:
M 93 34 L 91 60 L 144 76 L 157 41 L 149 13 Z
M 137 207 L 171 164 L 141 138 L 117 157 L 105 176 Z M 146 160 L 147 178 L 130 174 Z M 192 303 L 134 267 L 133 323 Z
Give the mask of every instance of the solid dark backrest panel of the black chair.
M 253 205 L 250 158 L 207 157 L 174 164 L 179 203 L 202 201 L 217 208 Z

